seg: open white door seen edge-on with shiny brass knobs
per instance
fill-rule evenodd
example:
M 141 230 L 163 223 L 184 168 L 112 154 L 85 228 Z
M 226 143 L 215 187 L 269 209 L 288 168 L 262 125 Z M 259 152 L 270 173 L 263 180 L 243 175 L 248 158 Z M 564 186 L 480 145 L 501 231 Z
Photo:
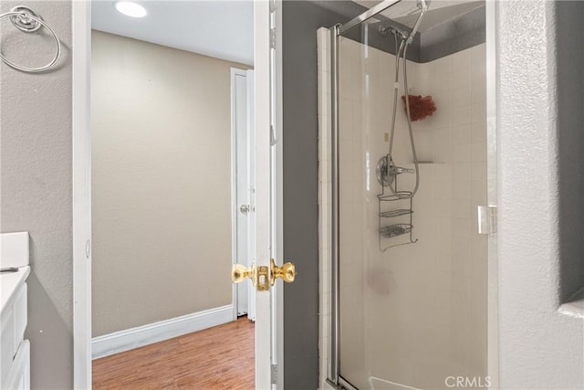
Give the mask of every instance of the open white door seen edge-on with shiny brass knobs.
M 296 269 L 291 264 L 276 266 L 272 258 L 281 253 L 281 172 L 279 162 L 281 142 L 276 144 L 276 132 L 281 118 L 279 98 L 279 57 L 273 42 L 273 33 L 279 33 L 277 2 L 254 3 L 254 68 L 253 95 L 255 112 L 251 132 L 255 139 L 251 170 L 255 192 L 251 202 L 255 205 L 252 223 L 255 225 L 255 245 L 252 244 L 253 265 L 235 265 L 232 277 L 249 283 L 255 290 L 255 387 L 271 389 L 280 385 L 282 373 L 277 367 L 281 354 L 281 315 L 276 302 L 281 301 L 281 282 L 294 280 Z M 255 247 L 255 248 L 254 248 Z M 281 368 L 281 367 L 280 367 Z

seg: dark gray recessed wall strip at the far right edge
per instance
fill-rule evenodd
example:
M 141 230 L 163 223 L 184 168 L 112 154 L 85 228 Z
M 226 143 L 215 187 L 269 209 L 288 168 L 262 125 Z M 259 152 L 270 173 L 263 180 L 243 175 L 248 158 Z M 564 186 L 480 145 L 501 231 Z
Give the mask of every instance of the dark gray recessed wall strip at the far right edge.
M 584 287 L 584 4 L 558 2 L 556 17 L 560 298 L 566 301 Z

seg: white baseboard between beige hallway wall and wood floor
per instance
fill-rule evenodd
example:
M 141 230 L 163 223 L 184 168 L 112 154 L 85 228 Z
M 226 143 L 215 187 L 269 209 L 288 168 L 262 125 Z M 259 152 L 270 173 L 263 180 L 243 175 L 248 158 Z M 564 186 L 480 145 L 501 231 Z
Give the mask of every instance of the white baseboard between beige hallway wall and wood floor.
M 234 308 L 233 305 L 227 305 L 104 334 L 91 339 L 91 356 L 93 359 L 98 359 L 231 321 L 234 321 Z

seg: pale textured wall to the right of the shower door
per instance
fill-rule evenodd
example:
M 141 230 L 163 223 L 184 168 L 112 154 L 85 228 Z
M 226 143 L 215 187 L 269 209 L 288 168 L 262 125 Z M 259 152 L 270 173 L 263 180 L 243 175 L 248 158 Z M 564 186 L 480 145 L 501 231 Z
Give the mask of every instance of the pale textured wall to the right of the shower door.
M 556 77 L 581 72 L 582 58 L 581 53 L 570 57 L 579 60 L 578 67 L 555 58 L 557 24 L 565 22 L 563 28 L 581 30 L 578 17 L 557 19 L 565 16 L 565 10 L 557 14 L 558 3 L 497 4 L 499 348 L 501 387 L 505 389 L 584 385 L 582 320 L 557 311 L 561 303 L 560 242 L 565 239 L 558 237 L 558 231 L 563 231 L 558 229 L 563 223 L 558 215 L 559 199 L 573 202 L 576 212 L 581 210 L 581 199 L 560 197 L 560 188 L 566 187 L 558 183 L 558 167 L 568 162 L 569 154 L 558 153 L 558 135 L 559 145 L 564 147 L 567 142 L 578 142 L 581 125 L 578 130 L 565 127 L 579 121 L 567 118 L 572 113 L 564 108 L 558 111 L 557 96 L 562 89 L 558 90 Z M 563 6 L 581 9 L 582 5 Z M 577 53 L 579 47 L 573 47 Z M 565 87 L 565 77 L 560 76 L 560 87 Z M 570 81 L 576 80 L 579 78 Z M 569 97 L 578 101 L 578 111 L 581 93 Z M 576 115 L 574 118 L 581 114 Z M 573 181 L 576 187 L 572 188 L 578 188 L 581 166 L 578 173 L 571 172 L 573 176 L 562 180 Z M 571 250 L 581 268 L 584 254 L 579 246 Z

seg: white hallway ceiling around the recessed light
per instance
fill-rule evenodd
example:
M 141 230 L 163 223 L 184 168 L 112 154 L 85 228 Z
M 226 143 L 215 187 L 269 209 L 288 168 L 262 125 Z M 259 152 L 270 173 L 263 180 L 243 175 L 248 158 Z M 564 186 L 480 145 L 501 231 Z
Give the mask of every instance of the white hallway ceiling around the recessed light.
M 111 0 L 91 2 L 91 26 L 107 33 L 246 65 L 254 63 L 251 0 L 136 0 L 148 15 L 124 16 Z

